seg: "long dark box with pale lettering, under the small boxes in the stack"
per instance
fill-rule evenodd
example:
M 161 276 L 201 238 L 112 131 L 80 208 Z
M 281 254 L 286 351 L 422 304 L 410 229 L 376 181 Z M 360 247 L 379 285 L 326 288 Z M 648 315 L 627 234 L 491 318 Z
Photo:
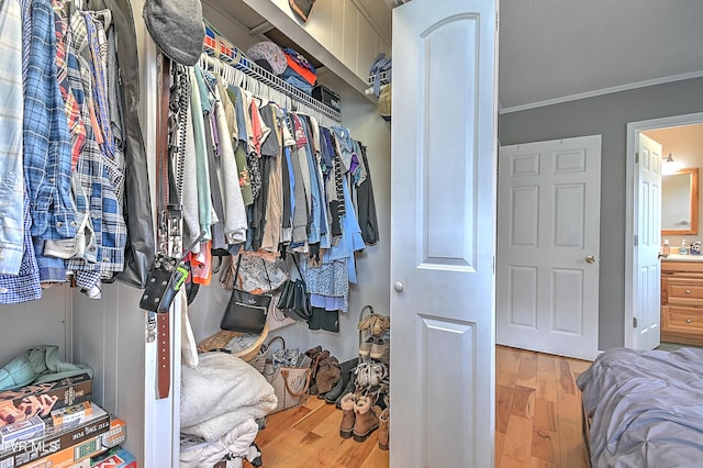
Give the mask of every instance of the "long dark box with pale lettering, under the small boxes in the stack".
M 94 403 L 92 404 L 92 413 L 83 423 L 59 427 L 49 426 L 43 437 L 30 442 L 18 442 L 9 449 L 0 452 L 0 467 L 25 466 L 77 444 L 102 436 L 110 430 L 110 414 Z

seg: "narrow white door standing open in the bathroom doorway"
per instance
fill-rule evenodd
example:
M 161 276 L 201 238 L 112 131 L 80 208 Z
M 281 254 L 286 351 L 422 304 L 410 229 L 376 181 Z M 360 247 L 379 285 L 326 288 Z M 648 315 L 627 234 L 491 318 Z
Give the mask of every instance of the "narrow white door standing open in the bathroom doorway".
M 634 304 L 633 328 L 635 349 L 659 346 L 661 320 L 661 145 L 639 133 L 635 165 L 638 207 L 635 243 L 635 275 L 637 296 Z

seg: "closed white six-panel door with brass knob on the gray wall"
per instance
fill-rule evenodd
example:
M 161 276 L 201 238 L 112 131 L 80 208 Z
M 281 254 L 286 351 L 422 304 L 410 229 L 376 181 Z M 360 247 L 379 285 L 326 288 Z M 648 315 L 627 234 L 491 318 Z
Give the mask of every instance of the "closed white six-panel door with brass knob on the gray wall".
M 501 146 L 496 342 L 598 355 L 601 136 Z

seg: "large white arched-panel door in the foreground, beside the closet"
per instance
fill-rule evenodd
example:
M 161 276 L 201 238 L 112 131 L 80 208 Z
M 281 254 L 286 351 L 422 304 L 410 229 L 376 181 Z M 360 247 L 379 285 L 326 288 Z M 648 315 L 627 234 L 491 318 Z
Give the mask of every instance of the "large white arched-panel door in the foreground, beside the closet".
M 393 10 L 394 468 L 493 466 L 496 9 Z

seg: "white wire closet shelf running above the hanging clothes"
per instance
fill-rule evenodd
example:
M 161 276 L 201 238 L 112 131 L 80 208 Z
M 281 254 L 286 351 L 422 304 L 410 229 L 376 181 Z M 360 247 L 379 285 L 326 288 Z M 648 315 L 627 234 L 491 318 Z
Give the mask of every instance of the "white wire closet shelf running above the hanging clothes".
M 205 38 L 203 41 L 203 51 L 208 56 L 219 59 L 237 70 L 248 75 L 266 86 L 282 92 L 294 101 L 320 112 L 335 122 L 342 122 L 342 113 L 324 103 L 317 101 L 312 96 L 301 91 L 269 73 L 267 69 L 259 67 L 254 60 L 248 58 L 238 47 L 222 41 L 208 25 L 205 25 Z

